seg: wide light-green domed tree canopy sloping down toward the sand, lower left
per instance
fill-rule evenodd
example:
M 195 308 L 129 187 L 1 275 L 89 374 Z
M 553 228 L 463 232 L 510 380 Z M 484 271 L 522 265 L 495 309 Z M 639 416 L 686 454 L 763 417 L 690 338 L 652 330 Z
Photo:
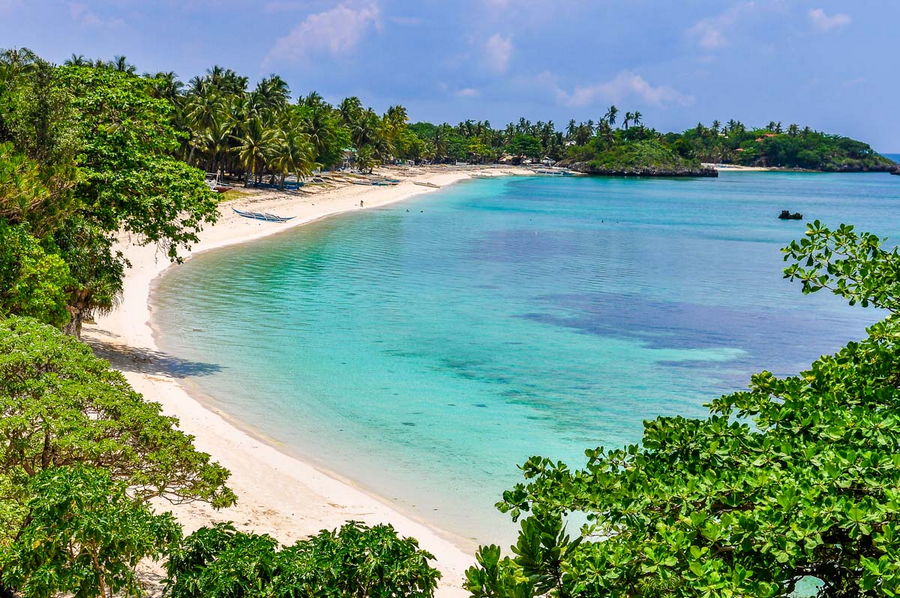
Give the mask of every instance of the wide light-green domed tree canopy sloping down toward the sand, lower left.
M 177 424 L 86 345 L 28 318 L 0 320 L 0 476 L 18 487 L 43 470 L 84 464 L 139 498 L 232 504 L 227 470 Z

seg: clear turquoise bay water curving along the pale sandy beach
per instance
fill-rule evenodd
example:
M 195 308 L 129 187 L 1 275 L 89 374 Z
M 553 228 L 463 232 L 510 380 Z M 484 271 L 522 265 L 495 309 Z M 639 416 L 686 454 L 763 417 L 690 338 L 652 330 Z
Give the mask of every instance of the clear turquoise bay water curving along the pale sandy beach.
M 584 462 L 881 317 L 783 280 L 807 221 L 900 238 L 900 177 L 464 182 L 201 254 L 155 292 L 185 382 L 465 538 L 531 455 Z M 276 225 L 272 225 L 276 226 Z

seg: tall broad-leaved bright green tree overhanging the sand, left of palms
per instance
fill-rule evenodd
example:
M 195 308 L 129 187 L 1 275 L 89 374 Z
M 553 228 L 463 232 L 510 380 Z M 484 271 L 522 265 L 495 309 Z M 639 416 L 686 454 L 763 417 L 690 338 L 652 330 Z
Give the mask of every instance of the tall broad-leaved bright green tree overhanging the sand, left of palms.
M 171 105 L 125 72 L 62 67 L 60 80 L 78 115 L 81 211 L 103 230 L 160 243 L 176 259 L 217 212 L 203 174 L 172 157 L 179 140 Z

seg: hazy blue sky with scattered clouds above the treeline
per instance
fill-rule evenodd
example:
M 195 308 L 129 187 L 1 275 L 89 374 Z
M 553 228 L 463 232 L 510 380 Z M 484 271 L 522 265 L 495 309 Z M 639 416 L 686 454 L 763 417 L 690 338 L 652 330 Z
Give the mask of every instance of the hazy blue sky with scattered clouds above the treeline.
M 0 47 L 278 73 L 413 121 L 782 121 L 900 153 L 898 0 L 0 0 Z

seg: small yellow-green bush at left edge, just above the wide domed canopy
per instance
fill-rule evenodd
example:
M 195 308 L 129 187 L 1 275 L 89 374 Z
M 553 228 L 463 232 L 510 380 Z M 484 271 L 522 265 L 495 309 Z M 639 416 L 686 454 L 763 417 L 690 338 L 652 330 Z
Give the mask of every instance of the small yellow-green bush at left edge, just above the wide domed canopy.
M 69 321 L 71 283 L 66 263 L 46 251 L 26 225 L 10 226 L 0 219 L 0 315 L 30 316 L 62 326 Z

